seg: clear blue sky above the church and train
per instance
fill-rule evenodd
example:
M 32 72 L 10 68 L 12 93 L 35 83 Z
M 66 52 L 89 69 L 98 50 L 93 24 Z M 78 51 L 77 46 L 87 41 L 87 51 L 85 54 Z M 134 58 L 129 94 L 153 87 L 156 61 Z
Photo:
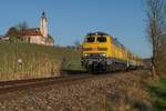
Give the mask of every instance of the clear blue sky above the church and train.
M 117 38 L 133 53 L 152 56 L 146 39 L 144 0 L 1 0 L 0 34 L 20 22 L 30 28 L 48 17 L 49 33 L 55 46 L 83 41 L 87 32 L 103 31 Z

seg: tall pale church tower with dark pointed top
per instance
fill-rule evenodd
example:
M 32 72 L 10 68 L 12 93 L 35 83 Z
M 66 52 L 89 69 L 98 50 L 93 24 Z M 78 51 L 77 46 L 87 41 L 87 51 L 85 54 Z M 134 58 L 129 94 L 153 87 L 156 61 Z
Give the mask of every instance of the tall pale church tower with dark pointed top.
M 45 38 L 48 37 L 48 21 L 46 21 L 45 12 L 43 12 L 41 17 L 40 32 L 43 37 Z

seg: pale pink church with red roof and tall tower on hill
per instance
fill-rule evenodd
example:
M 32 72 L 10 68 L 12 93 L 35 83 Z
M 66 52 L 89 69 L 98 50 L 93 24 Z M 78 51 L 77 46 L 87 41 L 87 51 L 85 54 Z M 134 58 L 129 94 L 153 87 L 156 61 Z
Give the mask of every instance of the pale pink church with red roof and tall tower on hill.
M 40 20 L 40 28 L 29 28 L 22 31 L 22 38 L 25 42 L 43 44 L 43 46 L 53 46 L 54 40 L 48 33 L 48 20 L 45 12 L 42 13 Z

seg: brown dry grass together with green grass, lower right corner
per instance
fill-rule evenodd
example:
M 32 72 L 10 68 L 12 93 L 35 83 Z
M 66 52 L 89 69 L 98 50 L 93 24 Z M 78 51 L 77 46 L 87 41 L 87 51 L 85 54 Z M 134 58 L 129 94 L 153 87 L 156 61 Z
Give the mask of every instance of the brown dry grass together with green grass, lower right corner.
M 156 81 L 151 74 L 135 73 L 118 82 L 114 91 L 106 98 L 111 111 L 166 111 L 166 77 Z

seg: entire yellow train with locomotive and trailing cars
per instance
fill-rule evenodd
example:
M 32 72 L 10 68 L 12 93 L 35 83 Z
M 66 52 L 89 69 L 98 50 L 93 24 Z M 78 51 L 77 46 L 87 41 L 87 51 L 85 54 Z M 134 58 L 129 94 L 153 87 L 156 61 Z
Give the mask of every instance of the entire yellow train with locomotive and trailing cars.
M 82 65 L 91 72 L 137 69 L 142 59 L 133 54 L 112 36 L 93 32 L 82 44 Z

